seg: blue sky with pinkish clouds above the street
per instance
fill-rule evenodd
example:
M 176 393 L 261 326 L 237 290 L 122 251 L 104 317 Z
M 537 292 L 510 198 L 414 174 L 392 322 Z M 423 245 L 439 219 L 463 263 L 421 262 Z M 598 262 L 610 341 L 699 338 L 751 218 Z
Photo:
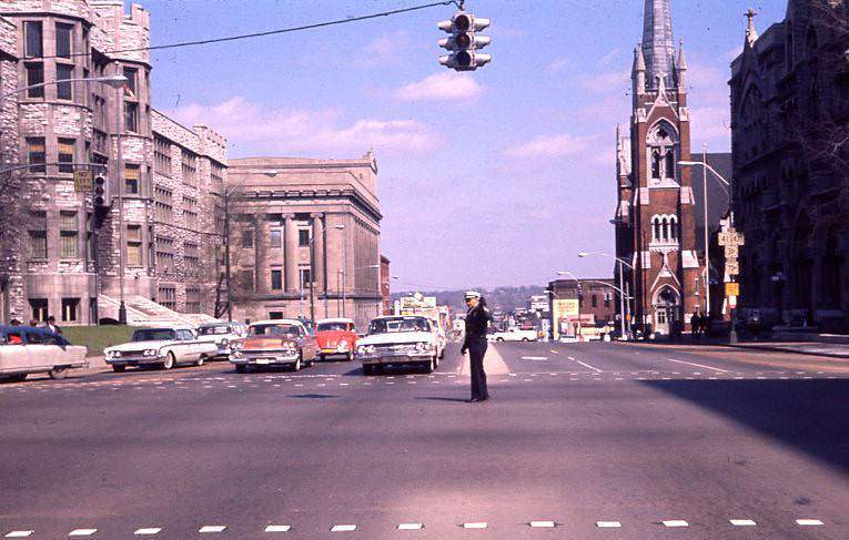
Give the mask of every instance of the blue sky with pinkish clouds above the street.
M 416 0 L 146 0 L 153 44 L 272 30 Z M 617 122 L 627 126 L 643 0 L 469 0 L 491 18 L 474 73 L 441 67 L 453 7 L 153 53 L 153 102 L 224 134 L 231 156 L 356 157 L 374 149 L 382 249 L 400 288 L 610 275 Z M 750 7 L 673 0 L 690 68 L 693 144 L 727 151 L 729 62 Z M 752 2 L 760 31 L 785 0 Z

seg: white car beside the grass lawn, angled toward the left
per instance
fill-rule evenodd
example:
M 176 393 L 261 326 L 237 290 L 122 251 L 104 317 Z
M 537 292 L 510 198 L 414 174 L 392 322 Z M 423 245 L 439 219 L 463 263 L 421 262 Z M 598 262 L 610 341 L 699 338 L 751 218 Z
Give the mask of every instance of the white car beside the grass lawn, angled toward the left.
M 119 373 L 127 366 L 158 366 L 163 369 L 181 364 L 202 366 L 218 353 L 218 345 L 199 340 L 190 327 L 139 328 L 129 343 L 103 349 L 107 364 Z

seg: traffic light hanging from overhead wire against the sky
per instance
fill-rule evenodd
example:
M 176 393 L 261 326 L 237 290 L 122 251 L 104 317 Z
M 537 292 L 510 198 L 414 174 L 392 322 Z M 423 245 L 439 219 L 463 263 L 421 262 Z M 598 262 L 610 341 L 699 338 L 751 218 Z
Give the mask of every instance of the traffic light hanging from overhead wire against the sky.
M 492 54 L 477 52 L 492 41 L 488 35 L 477 35 L 477 32 L 489 26 L 489 19 L 459 11 L 449 21 L 442 21 L 437 26 L 451 34 L 439 40 L 439 47 L 453 51 L 439 57 L 441 64 L 456 71 L 474 71 L 492 61 Z

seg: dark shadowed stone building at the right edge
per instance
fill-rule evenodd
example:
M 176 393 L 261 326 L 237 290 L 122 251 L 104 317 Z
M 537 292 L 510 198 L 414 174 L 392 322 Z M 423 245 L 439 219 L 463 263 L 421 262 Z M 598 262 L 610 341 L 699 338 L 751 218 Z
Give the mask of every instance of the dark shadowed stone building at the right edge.
M 730 80 L 744 315 L 849 332 L 849 6 L 754 16 Z

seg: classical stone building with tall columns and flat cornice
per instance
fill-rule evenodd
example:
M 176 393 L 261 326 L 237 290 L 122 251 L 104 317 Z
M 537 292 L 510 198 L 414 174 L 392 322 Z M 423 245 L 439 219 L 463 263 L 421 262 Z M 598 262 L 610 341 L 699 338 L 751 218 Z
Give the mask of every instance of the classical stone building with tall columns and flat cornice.
M 233 317 L 381 313 L 377 162 L 230 160 Z

